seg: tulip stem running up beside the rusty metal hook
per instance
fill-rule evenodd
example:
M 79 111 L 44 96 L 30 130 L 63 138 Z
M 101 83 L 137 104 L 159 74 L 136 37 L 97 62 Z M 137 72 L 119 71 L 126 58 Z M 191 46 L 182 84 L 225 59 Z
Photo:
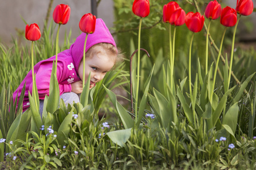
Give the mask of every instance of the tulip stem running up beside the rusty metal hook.
M 135 122 L 138 119 L 138 97 L 139 97 L 139 64 L 140 64 L 140 54 L 141 54 L 141 24 L 142 18 L 139 20 L 139 34 L 138 34 L 138 58 L 137 58 L 137 86 L 136 86 L 136 98 L 135 98 Z

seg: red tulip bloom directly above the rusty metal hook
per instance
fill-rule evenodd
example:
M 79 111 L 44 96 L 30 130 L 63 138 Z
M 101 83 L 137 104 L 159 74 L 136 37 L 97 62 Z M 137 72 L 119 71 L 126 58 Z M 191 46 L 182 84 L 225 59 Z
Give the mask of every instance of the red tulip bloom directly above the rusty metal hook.
M 135 0 L 133 2 L 133 13 L 137 16 L 146 17 L 150 13 L 148 0 Z

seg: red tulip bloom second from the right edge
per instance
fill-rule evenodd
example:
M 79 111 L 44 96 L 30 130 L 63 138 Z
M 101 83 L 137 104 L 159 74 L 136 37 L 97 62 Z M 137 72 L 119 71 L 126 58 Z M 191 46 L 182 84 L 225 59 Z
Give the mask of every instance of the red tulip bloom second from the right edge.
M 237 11 L 226 6 L 221 11 L 221 24 L 226 27 L 233 27 L 237 23 Z

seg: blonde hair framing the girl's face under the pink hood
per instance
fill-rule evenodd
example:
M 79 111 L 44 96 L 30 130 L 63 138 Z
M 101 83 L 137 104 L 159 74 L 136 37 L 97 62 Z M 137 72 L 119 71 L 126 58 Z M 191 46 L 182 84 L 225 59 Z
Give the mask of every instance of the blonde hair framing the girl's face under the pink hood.
M 87 52 L 85 57 L 86 58 L 92 58 L 93 54 L 99 54 L 99 53 L 104 53 L 107 54 L 108 57 L 113 59 L 114 61 L 114 66 L 118 62 L 122 62 L 124 59 L 124 55 L 122 54 L 121 50 L 119 48 L 115 48 L 114 45 L 106 42 L 101 42 L 98 44 L 95 44 L 91 46 Z

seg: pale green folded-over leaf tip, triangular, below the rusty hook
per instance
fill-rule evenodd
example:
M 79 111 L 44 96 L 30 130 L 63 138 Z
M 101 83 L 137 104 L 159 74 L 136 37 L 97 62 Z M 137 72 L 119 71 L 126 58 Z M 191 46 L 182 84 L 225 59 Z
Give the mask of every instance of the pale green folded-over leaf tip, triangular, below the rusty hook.
M 114 142 L 117 143 L 118 146 L 125 146 L 125 143 L 131 136 L 131 128 L 124 130 L 115 130 L 106 133 L 108 137 Z

